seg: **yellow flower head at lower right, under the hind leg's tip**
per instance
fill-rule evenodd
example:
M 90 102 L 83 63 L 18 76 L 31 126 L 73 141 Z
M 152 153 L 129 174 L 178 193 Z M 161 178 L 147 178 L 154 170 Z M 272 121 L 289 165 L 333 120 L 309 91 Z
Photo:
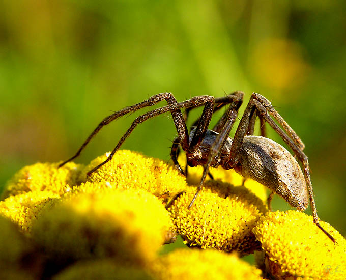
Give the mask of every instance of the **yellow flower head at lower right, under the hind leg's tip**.
M 346 278 L 346 239 L 329 223 L 321 226 L 336 240 L 334 244 L 313 218 L 299 211 L 268 212 L 253 232 L 264 250 L 265 270 L 275 279 Z

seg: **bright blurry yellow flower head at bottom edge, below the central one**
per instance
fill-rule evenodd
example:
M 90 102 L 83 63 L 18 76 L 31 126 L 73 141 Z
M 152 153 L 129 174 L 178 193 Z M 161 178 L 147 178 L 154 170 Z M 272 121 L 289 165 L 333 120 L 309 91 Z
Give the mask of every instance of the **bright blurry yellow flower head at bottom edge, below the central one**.
M 261 271 L 235 254 L 213 249 L 177 249 L 160 257 L 153 265 L 158 280 L 229 279 L 259 280 Z

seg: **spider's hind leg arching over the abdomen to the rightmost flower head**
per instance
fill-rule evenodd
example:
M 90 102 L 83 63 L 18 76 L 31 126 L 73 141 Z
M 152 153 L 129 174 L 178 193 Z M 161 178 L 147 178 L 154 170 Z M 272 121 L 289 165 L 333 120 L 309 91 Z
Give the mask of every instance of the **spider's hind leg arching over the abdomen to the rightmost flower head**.
M 316 205 L 313 199 L 313 189 L 312 189 L 312 184 L 310 179 L 309 162 L 308 162 L 307 156 L 303 152 L 305 145 L 303 144 L 301 139 L 298 137 L 298 135 L 294 132 L 294 130 L 277 113 L 277 111 L 274 109 L 271 103 L 260 94 L 253 93 L 245 109 L 244 115 L 240 121 L 235 137 L 233 139 L 232 147 L 230 149 L 230 162 L 232 162 L 230 164 L 235 166 L 238 162 L 240 145 L 242 144 L 242 141 L 248 129 L 249 121 L 251 119 L 251 111 L 253 111 L 254 108 L 256 109 L 257 114 L 261 115 L 262 118 L 276 131 L 276 133 L 279 134 L 279 136 L 283 139 L 283 141 L 293 150 L 295 155 L 298 157 L 298 159 L 302 163 L 303 170 L 304 170 L 305 183 L 307 186 L 310 206 L 312 209 L 313 222 L 335 243 L 334 237 L 332 237 L 319 223 Z M 274 122 L 274 120 L 270 117 L 268 113 L 275 120 L 277 120 L 277 122 L 283 127 L 284 130 L 282 130 L 282 128 L 280 128 Z

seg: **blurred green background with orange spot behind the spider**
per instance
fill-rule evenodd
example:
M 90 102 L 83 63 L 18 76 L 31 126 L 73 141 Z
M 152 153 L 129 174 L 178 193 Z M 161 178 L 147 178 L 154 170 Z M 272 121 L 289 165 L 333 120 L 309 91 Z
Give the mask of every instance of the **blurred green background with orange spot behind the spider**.
M 111 111 L 151 95 L 243 90 L 246 104 L 258 92 L 303 139 L 319 216 L 346 235 L 345 11 L 336 0 L 2 1 L 0 187 L 24 165 L 67 159 Z M 113 149 L 137 115 L 77 162 Z M 122 148 L 169 160 L 175 135 L 160 116 Z

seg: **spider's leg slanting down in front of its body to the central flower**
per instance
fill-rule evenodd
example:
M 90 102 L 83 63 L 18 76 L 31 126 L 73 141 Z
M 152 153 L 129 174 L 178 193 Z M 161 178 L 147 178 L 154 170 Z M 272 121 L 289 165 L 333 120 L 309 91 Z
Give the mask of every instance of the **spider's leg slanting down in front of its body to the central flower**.
M 193 199 L 191 200 L 190 204 L 189 204 L 189 208 L 193 205 L 195 199 L 197 198 L 197 195 L 199 193 L 199 191 L 201 190 L 203 183 L 206 179 L 206 176 L 208 174 L 209 171 L 209 167 L 210 164 L 212 162 L 212 160 L 216 157 L 216 156 L 220 156 L 222 147 L 224 146 L 225 142 L 227 141 L 227 138 L 229 136 L 230 130 L 232 129 L 232 126 L 234 124 L 234 122 L 236 121 L 237 115 L 238 115 L 238 109 L 240 107 L 240 105 L 243 102 L 243 96 L 239 96 L 238 99 L 235 99 L 227 108 L 226 112 L 223 114 L 224 116 L 221 118 L 222 121 L 221 123 L 223 123 L 222 129 L 220 129 L 220 133 L 217 135 L 215 142 L 213 143 L 209 156 L 208 156 L 208 161 L 204 166 L 203 169 L 203 175 L 201 177 L 200 180 L 200 184 L 198 185 L 197 191 L 193 197 Z

